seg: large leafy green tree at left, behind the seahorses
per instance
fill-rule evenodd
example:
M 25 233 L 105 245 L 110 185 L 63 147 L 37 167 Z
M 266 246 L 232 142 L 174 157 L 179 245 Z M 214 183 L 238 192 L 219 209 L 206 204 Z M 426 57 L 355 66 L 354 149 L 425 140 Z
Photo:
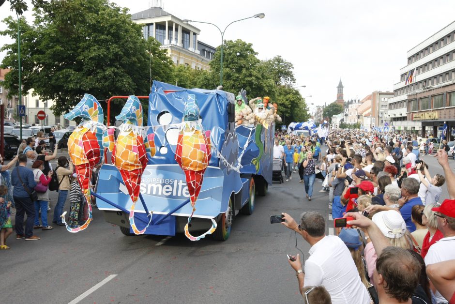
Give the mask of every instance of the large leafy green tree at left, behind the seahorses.
M 32 25 L 19 21 L 22 84 L 24 91 L 34 89 L 44 100 L 54 100 L 54 114 L 71 109 L 86 92 L 98 100 L 148 95 L 150 76 L 172 80 L 174 67 L 166 50 L 153 38 L 143 39 L 141 26 L 131 21 L 127 9 L 108 0 L 55 0 L 47 5 L 46 10 L 35 7 Z M 0 35 L 16 40 L 17 21 L 8 17 L 4 22 L 7 29 Z M 17 41 L 1 50 L 7 51 L 1 67 L 12 70 L 5 88 L 15 94 Z M 114 102 L 113 113 L 123 105 Z

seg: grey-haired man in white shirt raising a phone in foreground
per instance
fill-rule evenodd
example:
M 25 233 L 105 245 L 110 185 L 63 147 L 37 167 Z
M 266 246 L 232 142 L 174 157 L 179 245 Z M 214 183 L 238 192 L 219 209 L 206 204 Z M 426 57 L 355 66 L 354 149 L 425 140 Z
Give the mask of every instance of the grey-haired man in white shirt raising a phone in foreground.
M 282 214 L 285 220 L 282 224 L 300 233 L 311 245 L 305 271 L 302 270 L 299 255 L 295 261 L 289 260 L 296 271 L 300 292 L 306 286 L 322 285 L 329 292 L 333 304 L 369 304 L 368 290 L 360 280 L 348 247 L 339 237 L 325 235 L 322 214 L 311 211 L 302 213 L 300 225 L 288 213 Z

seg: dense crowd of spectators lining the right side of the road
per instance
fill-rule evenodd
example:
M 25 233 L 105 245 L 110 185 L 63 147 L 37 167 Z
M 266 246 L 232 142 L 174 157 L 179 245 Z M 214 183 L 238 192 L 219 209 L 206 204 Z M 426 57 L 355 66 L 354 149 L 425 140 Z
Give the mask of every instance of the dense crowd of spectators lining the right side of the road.
M 322 142 L 303 140 L 311 142 L 305 150 Z M 326 170 L 320 191 L 329 189 L 331 215 L 348 217 L 347 227 L 326 235 L 322 214 L 304 212 L 297 223 L 283 213 L 283 225 L 311 245 L 306 261 L 289 259 L 304 303 L 455 303 L 455 174 L 446 142 L 435 154 L 443 175 L 425 162 L 428 137 L 334 130 L 326 143 L 326 163 L 320 152 L 315 163 Z M 311 198 L 305 162 L 308 152 L 298 163 Z

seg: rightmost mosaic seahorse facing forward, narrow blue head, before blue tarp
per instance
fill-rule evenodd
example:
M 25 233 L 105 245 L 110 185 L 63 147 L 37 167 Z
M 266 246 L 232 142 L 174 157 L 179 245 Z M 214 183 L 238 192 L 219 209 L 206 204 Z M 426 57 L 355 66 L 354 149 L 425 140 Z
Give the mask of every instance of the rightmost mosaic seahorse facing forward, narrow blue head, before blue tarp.
M 205 169 L 209 166 L 211 157 L 210 131 L 204 132 L 199 122 L 199 107 L 196 97 L 188 95 L 188 101 L 183 114 L 182 128 L 177 141 L 175 160 L 185 172 L 186 184 L 190 194 L 193 210 L 185 225 L 185 235 L 191 241 L 198 241 L 216 230 L 216 222 L 212 219 L 212 228 L 200 236 L 192 236 L 188 231 L 191 218 L 196 211 L 196 201 L 202 186 Z

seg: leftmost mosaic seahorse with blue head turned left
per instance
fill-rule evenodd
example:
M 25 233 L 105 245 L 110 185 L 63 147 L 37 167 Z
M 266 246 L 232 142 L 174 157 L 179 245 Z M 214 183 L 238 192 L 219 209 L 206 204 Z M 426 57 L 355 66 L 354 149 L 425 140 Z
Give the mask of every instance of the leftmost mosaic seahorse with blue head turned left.
M 87 221 L 78 228 L 70 228 L 65 222 L 64 212 L 62 222 L 70 232 L 78 232 L 87 228 L 91 222 L 91 174 L 93 168 L 103 161 L 103 108 L 95 97 L 85 94 L 73 110 L 64 115 L 67 120 L 82 117 L 82 122 L 68 138 L 68 153 L 76 167 L 76 176 L 82 193 L 89 208 Z M 82 208 L 82 207 L 81 207 Z

